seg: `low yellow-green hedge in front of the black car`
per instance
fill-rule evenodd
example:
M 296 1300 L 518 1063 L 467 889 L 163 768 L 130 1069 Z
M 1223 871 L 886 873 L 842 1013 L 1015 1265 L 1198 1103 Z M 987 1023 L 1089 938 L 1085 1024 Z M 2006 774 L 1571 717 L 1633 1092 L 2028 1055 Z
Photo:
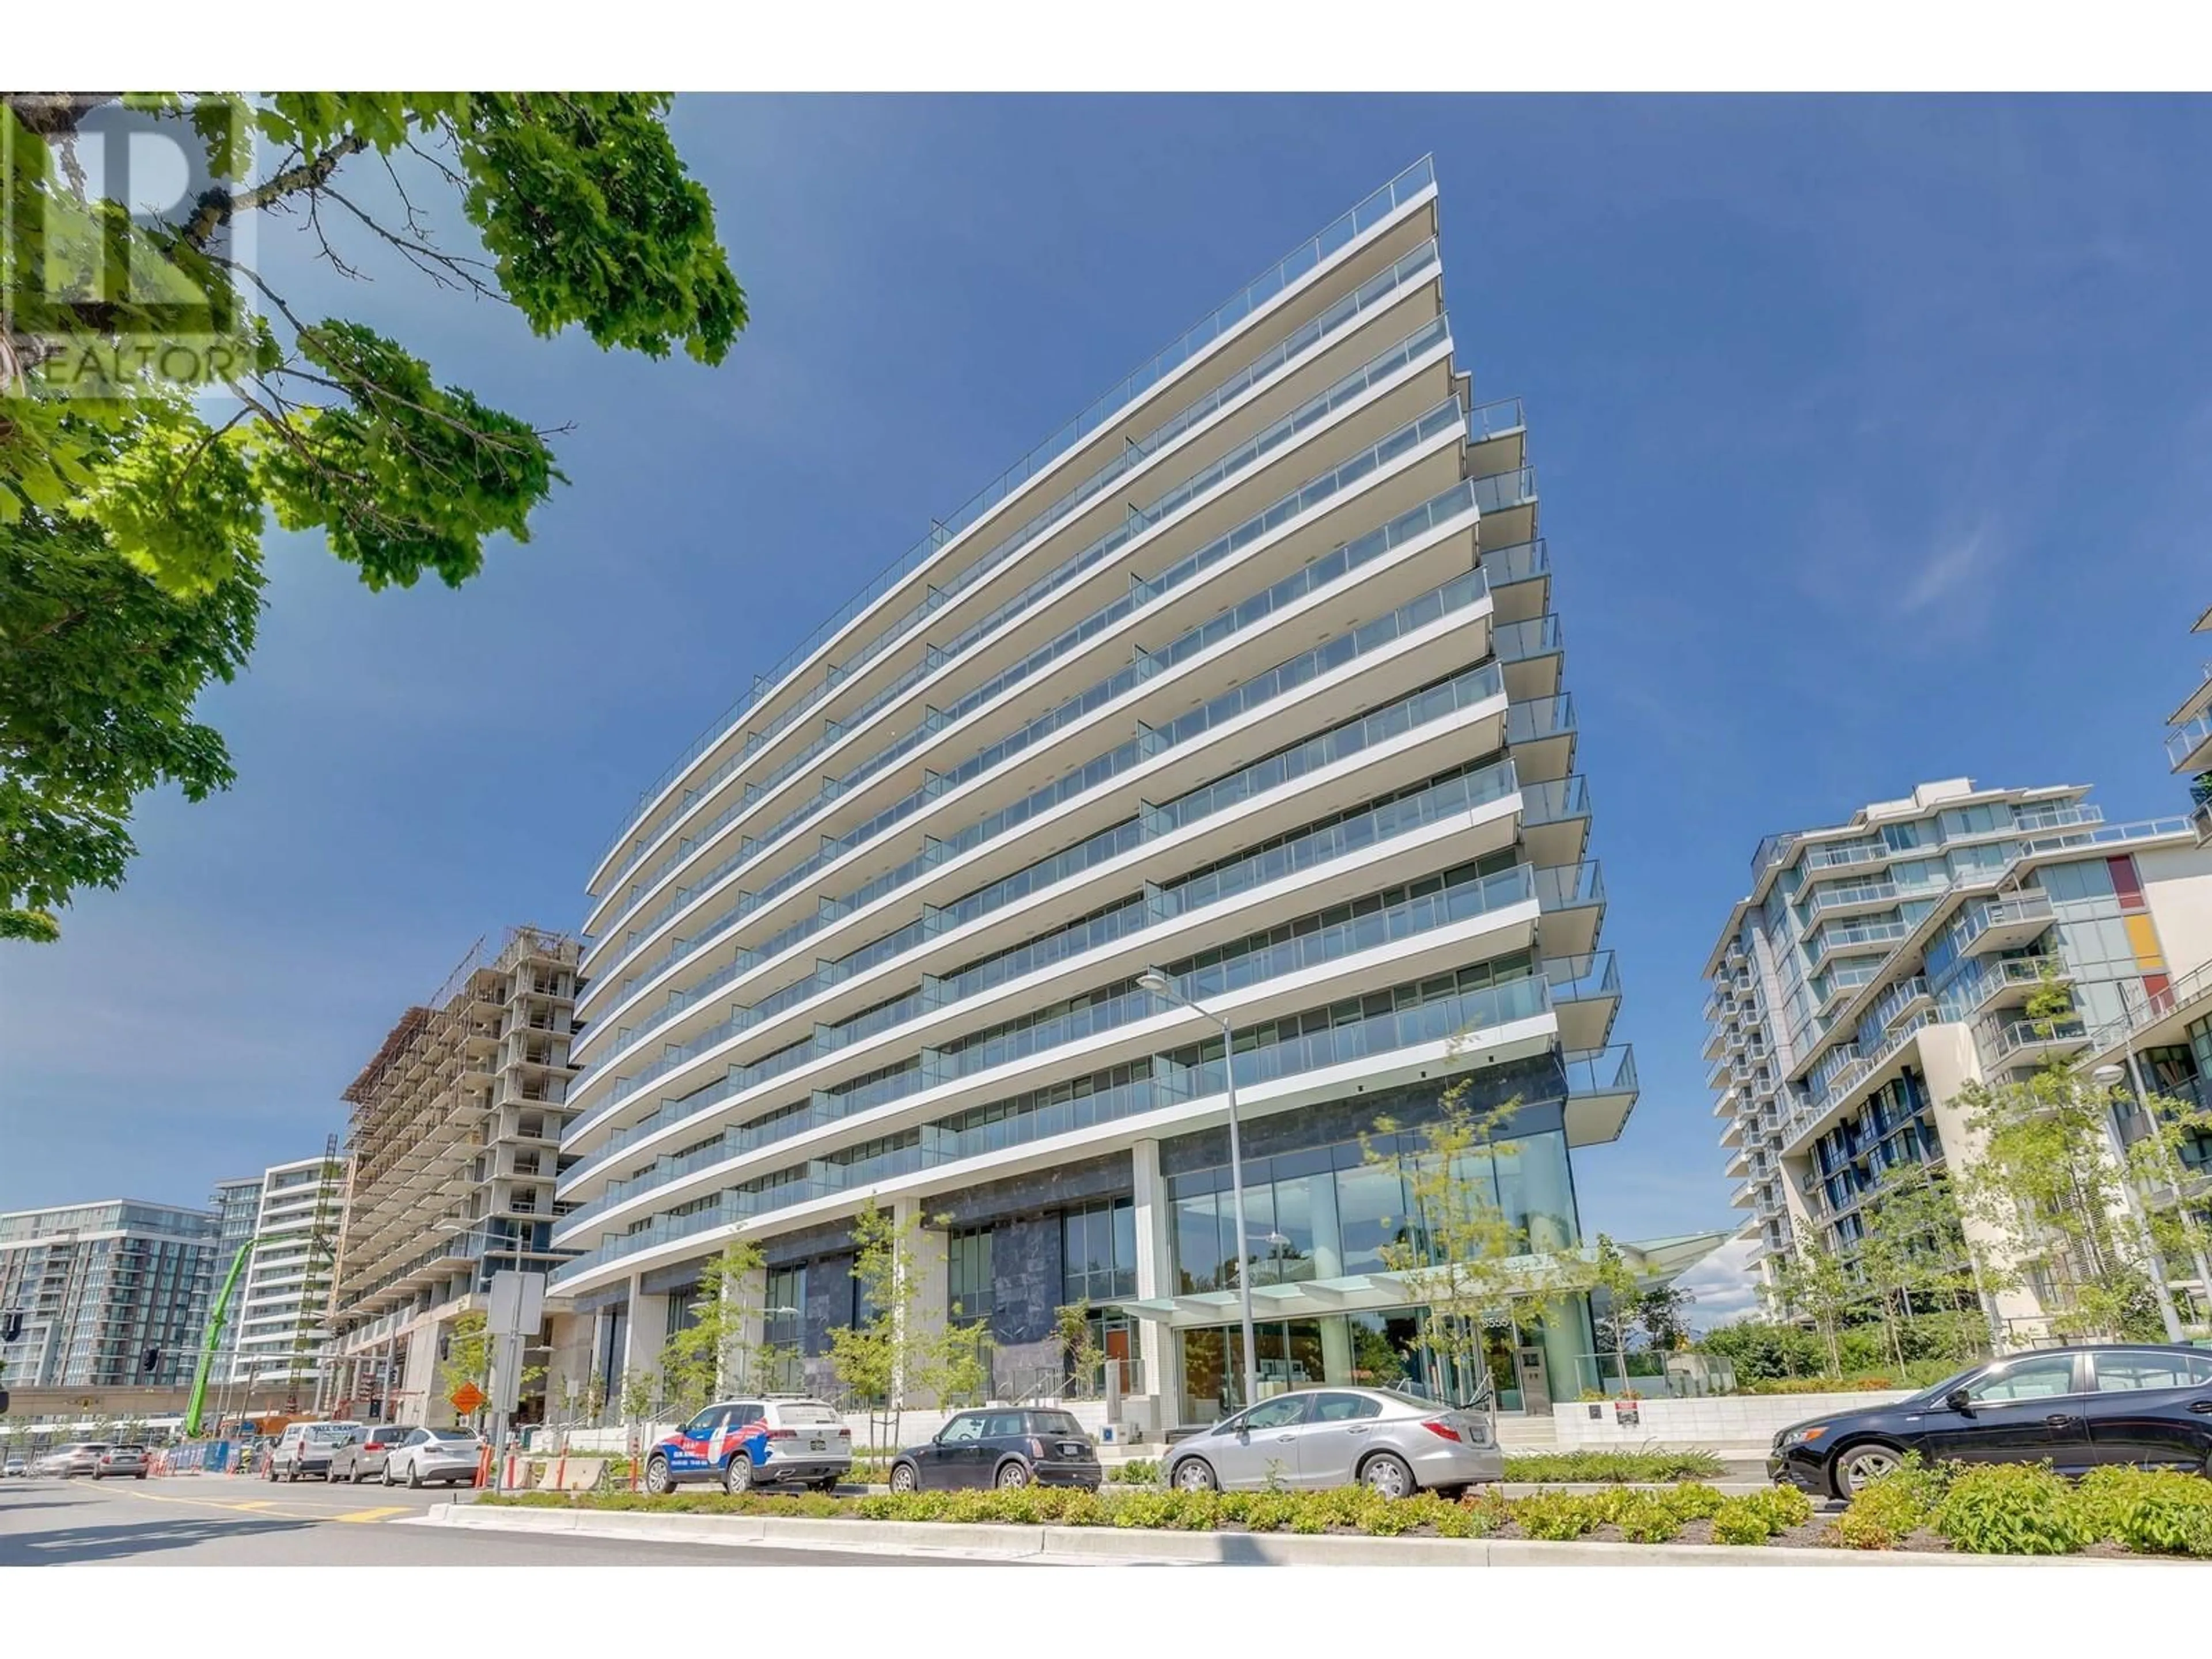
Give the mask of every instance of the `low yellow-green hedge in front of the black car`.
M 1836 1517 L 1845 1548 L 1949 1546 L 1971 1555 L 2212 1557 L 2212 1480 L 2166 1469 L 2093 1469 L 2066 1480 L 2051 1464 L 1922 1464 L 1907 1458 Z

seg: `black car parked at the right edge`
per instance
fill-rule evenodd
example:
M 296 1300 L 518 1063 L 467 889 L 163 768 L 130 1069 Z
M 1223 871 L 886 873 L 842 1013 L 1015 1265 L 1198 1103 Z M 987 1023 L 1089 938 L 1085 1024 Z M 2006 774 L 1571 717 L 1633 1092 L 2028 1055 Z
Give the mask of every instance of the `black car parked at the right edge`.
M 2099 1464 L 2212 1475 L 2212 1352 L 2154 1343 L 2044 1347 L 1984 1360 L 1896 1405 L 1774 1436 L 1767 1478 L 1849 1498 L 1918 1451 L 1929 1462 Z

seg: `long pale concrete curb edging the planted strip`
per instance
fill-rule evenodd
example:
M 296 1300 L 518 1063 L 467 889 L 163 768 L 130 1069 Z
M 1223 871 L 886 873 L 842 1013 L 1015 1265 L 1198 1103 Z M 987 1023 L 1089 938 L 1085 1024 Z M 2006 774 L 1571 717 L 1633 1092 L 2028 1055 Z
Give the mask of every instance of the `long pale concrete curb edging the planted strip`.
M 2124 1566 L 2079 1555 L 1933 1555 L 1763 1544 L 1546 1544 L 1491 1537 L 1316 1537 L 1298 1533 L 1166 1533 L 1119 1526 L 787 1520 L 781 1515 L 650 1515 L 619 1509 L 434 1504 L 425 1526 L 571 1533 L 666 1544 L 763 1544 L 876 1555 L 964 1555 L 1002 1562 L 1192 1566 Z M 2154 1566 L 2157 1562 L 2135 1562 Z

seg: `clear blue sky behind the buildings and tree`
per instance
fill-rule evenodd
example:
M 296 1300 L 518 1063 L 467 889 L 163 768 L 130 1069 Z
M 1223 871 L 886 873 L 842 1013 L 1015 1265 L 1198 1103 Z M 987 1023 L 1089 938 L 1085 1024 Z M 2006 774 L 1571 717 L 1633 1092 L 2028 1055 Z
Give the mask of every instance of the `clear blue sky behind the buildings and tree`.
M 2212 111 L 2185 100 L 706 100 L 752 327 L 714 372 L 535 341 L 263 230 L 294 305 L 573 422 L 460 593 L 270 544 L 239 787 L 0 951 L 0 1208 L 316 1150 L 480 933 L 573 927 L 635 792 L 1128 367 L 1433 150 L 1478 396 L 1520 394 L 1644 1099 L 1621 1237 L 1732 1223 L 1701 967 L 1761 834 L 1916 781 L 2174 812 L 2212 599 Z M 445 208 L 442 223 L 458 215 Z

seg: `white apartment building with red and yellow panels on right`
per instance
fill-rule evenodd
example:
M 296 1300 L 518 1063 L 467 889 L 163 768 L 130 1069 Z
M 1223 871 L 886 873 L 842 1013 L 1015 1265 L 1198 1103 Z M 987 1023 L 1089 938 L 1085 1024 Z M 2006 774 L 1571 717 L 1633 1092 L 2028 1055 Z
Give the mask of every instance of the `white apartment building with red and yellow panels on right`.
M 1962 1084 L 2086 1055 L 2172 962 L 2212 953 L 2190 821 L 2106 825 L 2086 796 L 1949 779 L 1759 843 L 1705 964 L 1705 1057 L 1763 1261 L 1807 1228 L 1847 1250 L 1882 1170 L 1962 1157 Z M 2079 1009 L 2051 1035 L 2024 1018 L 2046 971 Z M 2026 1338 L 2039 1301 L 1991 1312 Z

